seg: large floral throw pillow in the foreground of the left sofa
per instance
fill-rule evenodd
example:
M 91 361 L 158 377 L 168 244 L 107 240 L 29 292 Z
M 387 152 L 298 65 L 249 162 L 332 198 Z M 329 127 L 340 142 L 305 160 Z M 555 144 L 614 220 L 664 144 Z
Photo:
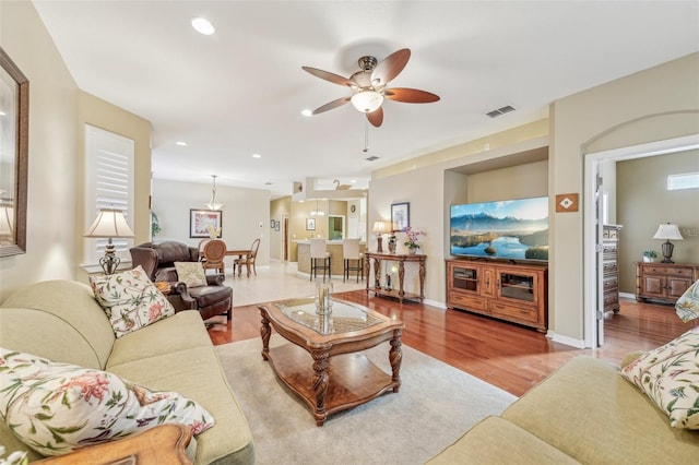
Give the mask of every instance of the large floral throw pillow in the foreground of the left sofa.
M 42 455 L 67 454 L 165 424 L 185 425 L 192 434 L 214 425 L 204 408 L 178 393 L 1 347 L 0 385 L 0 416 Z

